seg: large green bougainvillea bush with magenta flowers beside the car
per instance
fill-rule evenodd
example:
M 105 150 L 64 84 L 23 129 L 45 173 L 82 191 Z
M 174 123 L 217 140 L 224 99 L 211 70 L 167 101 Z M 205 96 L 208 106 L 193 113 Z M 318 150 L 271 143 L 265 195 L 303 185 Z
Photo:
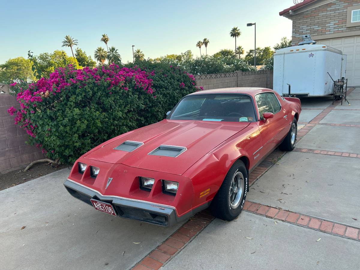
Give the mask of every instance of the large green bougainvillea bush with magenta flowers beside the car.
M 194 77 L 178 67 L 57 68 L 49 78 L 11 84 L 20 109 L 15 123 L 49 158 L 72 163 L 114 136 L 162 120 L 180 98 L 197 91 Z

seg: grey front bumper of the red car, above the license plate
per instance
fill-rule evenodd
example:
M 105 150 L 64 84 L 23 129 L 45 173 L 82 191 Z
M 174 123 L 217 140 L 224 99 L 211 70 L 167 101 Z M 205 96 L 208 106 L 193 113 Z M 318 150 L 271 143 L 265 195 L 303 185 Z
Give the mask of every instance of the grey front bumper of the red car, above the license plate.
M 190 211 L 182 216 L 177 216 L 174 207 L 162 204 L 153 204 L 147 201 L 102 195 L 94 189 L 78 184 L 67 179 L 64 183 L 67 191 L 75 198 L 93 207 L 90 199 L 96 199 L 114 206 L 116 214 L 125 219 L 148 222 L 160 226 L 171 226 L 177 222 L 188 219 L 193 215 Z

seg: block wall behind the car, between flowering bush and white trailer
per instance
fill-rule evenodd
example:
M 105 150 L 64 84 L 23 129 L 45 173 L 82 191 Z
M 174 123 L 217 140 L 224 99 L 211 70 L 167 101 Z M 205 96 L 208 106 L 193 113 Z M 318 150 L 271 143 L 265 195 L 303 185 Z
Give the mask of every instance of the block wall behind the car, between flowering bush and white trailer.
M 273 89 L 273 71 L 216 73 L 195 75 L 197 86 L 204 90 L 226 87 L 264 87 Z

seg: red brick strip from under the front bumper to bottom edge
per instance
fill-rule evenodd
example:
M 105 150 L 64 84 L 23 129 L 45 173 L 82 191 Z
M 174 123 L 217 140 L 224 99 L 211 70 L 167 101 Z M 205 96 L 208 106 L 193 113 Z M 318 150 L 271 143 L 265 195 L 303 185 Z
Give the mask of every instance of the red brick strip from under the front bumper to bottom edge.
M 132 269 L 159 269 L 185 248 L 214 219 L 215 217 L 208 210 L 197 213 Z

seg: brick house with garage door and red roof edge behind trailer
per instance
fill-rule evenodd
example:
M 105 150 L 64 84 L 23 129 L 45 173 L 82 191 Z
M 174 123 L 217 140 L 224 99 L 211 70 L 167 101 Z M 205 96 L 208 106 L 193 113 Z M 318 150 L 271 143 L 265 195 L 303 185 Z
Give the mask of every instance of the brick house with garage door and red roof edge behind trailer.
M 349 86 L 360 85 L 360 1 L 305 0 L 279 12 L 292 20 L 292 46 L 310 34 L 312 40 L 347 55 Z

